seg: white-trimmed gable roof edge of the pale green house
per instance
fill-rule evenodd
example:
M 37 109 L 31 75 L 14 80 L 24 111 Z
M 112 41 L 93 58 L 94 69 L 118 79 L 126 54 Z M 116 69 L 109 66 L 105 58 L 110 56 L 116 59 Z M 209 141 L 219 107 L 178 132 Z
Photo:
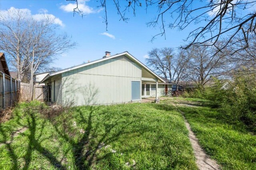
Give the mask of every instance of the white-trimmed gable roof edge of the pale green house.
M 109 57 L 104 57 L 104 58 L 102 58 L 102 59 L 90 61 L 90 62 L 88 62 L 88 63 L 76 65 L 76 66 L 74 66 L 74 67 L 69 67 L 69 68 L 66 68 L 66 69 L 63 69 L 63 70 L 60 70 L 60 71 L 56 71 L 56 72 L 53 72 L 53 73 L 49 73 L 48 75 L 46 75 L 46 77 L 44 77 L 44 79 L 42 79 L 42 81 L 41 81 L 40 83 L 42 83 L 43 81 L 46 81 L 47 79 L 49 79 L 50 77 L 52 77 L 52 76 L 54 76 L 54 75 L 58 75 L 58 74 L 60 74 L 60 73 L 66 72 L 66 71 L 78 69 L 78 68 L 80 68 L 80 67 L 84 67 L 84 66 L 91 65 L 91 64 L 94 64 L 94 63 L 98 63 L 98 62 L 101 62 L 101 61 L 105 61 L 105 60 L 108 60 L 108 59 L 112 59 L 112 58 L 114 58 L 114 57 L 118 57 L 118 56 L 121 56 L 121 55 L 125 55 L 126 57 L 129 57 L 130 59 L 132 59 L 133 61 L 135 61 L 136 63 L 138 63 L 140 66 L 142 66 L 144 69 L 146 69 L 148 72 L 150 72 L 152 75 L 154 75 L 155 77 L 157 77 L 160 81 L 165 82 L 164 79 L 162 79 L 162 77 L 160 77 L 160 76 L 158 76 L 156 73 L 154 73 L 154 71 L 152 71 L 151 69 L 149 69 L 146 65 L 144 65 L 142 62 L 140 62 L 138 59 L 136 59 L 134 56 L 132 56 L 128 51 L 124 51 L 124 52 L 118 53 L 118 54 L 116 54 L 116 55 L 111 55 L 111 56 L 109 56 Z

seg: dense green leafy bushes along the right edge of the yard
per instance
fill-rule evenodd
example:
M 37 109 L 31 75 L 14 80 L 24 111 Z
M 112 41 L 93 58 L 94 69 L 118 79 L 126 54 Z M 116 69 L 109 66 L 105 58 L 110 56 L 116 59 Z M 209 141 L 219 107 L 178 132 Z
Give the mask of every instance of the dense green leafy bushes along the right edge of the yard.
M 222 119 L 229 123 L 242 122 L 250 131 L 256 132 L 255 79 L 252 75 L 237 76 L 233 81 L 226 82 L 215 79 L 212 87 L 198 88 L 190 93 L 184 93 L 183 96 L 214 101 L 223 113 Z

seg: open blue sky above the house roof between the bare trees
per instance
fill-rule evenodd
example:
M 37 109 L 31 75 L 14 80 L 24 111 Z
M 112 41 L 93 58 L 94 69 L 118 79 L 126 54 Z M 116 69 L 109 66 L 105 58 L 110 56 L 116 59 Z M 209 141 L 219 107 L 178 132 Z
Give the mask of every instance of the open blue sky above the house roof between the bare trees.
M 125 2 L 126 1 L 120 1 Z M 198 1 L 199 2 L 199 1 Z M 134 57 L 145 63 L 145 55 L 154 47 L 178 47 L 183 45 L 183 41 L 188 36 L 189 31 L 194 25 L 186 30 L 170 30 L 166 28 L 166 40 L 164 37 L 158 37 L 154 42 L 150 42 L 152 36 L 160 33 L 159 28 L 148 28 L 146 22 L 154 18 L 156 9 L 148 9 L 146 14 L 145 7 L 137 10 L 136 17 L 132 12 L 128 13 L 130 18 L 128 23 L 119 21 L 113 1 L 107 1 L 108 6 L 108 31 L 103 23 L 104 10 L 96 8 L 99 2 L 80 1 L 80 9 L 85 16 L 81 18 L 78 15 L 73 17 L 72 8 L 74 2 L 66 0 L 1 0 L 0 10 L 8 10 L 11 7 L 27 9 L 32 15 L 52 14 L 58 20 L 60 32 L 66 32 L 72 36 L 72 40 L 78 43 L 75 49 L 64 53 L 58 61 L 54 61 L 52 66 L 62 69 L 87 62 L 88 60 L 99 59 L 105 51 L 111 54 L 128 51 Z M 166 16 L 166 20 L 168 21 Z M 171 18 L 170 18 L 171 20 Z M 166 22 L 168 23 L 168 22 Z

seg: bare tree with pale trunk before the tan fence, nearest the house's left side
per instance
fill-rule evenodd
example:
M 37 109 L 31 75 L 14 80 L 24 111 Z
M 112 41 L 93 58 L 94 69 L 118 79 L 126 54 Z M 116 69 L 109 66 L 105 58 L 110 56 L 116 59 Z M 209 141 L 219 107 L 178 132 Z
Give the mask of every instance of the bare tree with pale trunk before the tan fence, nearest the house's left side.
M 54 18 L 45 16 L 40 21 L 31 20 L 26 32 L 24 55 L 30 69 L 30 99 L 33 99 L 34 73 L 41 67 L 48 67 L 58 55 L 72 49 L 76 43 L 71 42 L 67 34 L 57 34 L 59 25 Z

